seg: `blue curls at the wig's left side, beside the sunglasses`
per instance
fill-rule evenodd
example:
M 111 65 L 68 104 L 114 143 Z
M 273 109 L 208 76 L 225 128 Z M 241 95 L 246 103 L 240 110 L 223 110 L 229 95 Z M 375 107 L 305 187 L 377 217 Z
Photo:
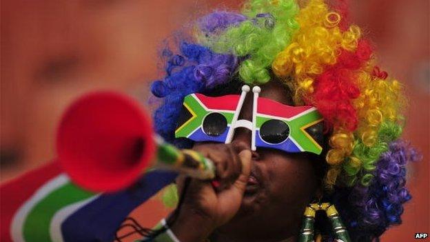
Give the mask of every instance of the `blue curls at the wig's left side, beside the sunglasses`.
M 183 143 L 174 140 L 174 129 L 184 97 L 227 83 L 236 71 L 238 59 L 232 54 L 216 54 L 194 43 L 183 42 L 179 50 L 180 54 L 172 54 L 170 50 L 163 52 L 168 58 L 166 76 L 152 83 L 151 92 L 163 98 L 163 104 L 154 112 L 156 132 L 183 148 Z

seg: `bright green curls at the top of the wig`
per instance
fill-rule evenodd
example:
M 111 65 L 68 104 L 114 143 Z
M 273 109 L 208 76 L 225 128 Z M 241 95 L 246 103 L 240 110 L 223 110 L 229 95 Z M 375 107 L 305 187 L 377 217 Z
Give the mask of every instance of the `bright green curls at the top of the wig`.
M 294 0 L 249 1 L 242 10 L 246 21 L 222 33 L 200 34 L 198 42 L 215 52 L 246 57 L 238 68 L 240 78 L 249 84 L 266 83 L 276 55 L 288 46 L 298 30 L 298 11 Z

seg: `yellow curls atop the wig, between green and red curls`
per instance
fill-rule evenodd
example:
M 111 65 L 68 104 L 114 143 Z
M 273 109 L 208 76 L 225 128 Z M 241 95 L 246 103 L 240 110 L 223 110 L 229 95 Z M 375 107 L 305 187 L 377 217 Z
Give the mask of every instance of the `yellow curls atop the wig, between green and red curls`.
M 272 63 L 276 76 L 292 77 L 287 84 L 296 90 L 296 105 L 314 92 L 314 78 L 326 65 L 333 65 L 340 48 L 354 51 L 360 38 L 360 28 L 351 26 L 346 32 L 338 27 L 340 14 L 328 9 L 323 0 L 311 0 L 296 17 L 300 28 Z

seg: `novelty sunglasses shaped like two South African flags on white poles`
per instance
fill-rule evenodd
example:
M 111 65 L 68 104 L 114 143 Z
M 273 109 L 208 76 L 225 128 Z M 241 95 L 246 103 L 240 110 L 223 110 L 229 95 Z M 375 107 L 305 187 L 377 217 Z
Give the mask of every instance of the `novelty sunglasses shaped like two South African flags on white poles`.
M 248 85 L 243 85 L 240 95 L 187 95 L 175 137 L 231 143 L 236 128 L 247 128 L 252 131 L 252 150 L 259 147 L 285 152 L 322 152 L 323 118 L 314 107 L 294 107 L 258 97 L 260 88 L 254 86 L 252 121 L 238 120 L 249 90 Z

